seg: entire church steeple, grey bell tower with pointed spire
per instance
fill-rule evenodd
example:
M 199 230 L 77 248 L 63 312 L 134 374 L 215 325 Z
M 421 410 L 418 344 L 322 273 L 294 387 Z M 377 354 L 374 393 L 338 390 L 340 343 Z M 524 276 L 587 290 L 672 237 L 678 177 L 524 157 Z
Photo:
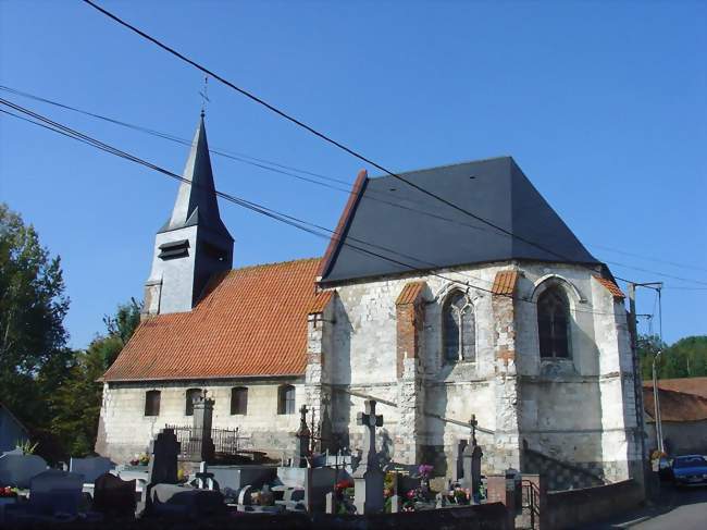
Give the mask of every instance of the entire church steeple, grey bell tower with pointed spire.
M 157 233 L 145 313 L 189 311 L 209 279 L 233 264 L 233 237 L 221 221 L 203 111 L 172 214 Z

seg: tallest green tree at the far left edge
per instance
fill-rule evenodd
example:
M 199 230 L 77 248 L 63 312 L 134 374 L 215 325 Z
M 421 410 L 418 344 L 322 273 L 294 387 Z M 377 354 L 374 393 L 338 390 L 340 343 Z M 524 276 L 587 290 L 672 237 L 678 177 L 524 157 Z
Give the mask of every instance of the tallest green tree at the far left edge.
M 34 226 L 0 204 L 0 389 L 30 429 L 45 424 L 41 397 L 72 362 L 67 310 L 60 258 L 50 257 Z

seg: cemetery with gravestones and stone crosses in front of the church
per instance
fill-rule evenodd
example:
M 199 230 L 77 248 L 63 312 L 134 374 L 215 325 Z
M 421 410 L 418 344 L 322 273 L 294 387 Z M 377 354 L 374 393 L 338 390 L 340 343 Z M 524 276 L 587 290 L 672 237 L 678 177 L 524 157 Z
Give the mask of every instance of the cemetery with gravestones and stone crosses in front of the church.
M 445 528 L 510 528 L 506 485 L 489 502 L 481 477 L 483 452 L 472 435 L 460 471 L 435 491 L 429 465 L 384 461 L 376 451 L 383 416 L 365 403 L 358 423 L 367 429 L 363 451 L 326 446 L 321 426 L 300 408 L 296 451 L 278 463 L 222 464 L 210 436 L 213 400 L 195 400 L 194 436 L 184 452 L 175 430 L 162 429 L 147 458 L 116 466 L 104 457 L 72 458 L 51 469 L 21 449 L 0 456 L 0 527 L 65 526 L 153 528 L 188 521 L 200 528 L 406 528 L 444 522 Z M 503 498 L 500 498 L 503 497 Z M 505 504 L 506 503 L 506 504 Z M 455 510 L 454 514 L 450 511 Z M 415 521 L 415 522 L 413 522 Z

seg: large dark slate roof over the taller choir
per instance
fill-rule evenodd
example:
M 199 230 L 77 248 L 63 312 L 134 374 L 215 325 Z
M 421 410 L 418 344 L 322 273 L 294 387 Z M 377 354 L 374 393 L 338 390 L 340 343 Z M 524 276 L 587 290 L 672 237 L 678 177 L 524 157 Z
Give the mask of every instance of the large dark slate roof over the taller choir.
M 392 176 L 368 178 L 343 224 L 345 245 L 333 245 L 324 258 L 322 283 L 409 272 L 410 267 L 405 264 L 431 270 L 510 259 L 599 263 L 510 157 L 401 176 L 517 237 Z

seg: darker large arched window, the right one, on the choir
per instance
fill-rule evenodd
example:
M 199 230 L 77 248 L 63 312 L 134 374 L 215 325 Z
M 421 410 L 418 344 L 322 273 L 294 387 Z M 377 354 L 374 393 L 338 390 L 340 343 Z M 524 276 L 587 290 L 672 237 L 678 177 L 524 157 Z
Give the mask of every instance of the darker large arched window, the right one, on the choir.
M 562 288 L 547 288 L 537 298 L 541 357 L 570 356 L 570 304 Z

